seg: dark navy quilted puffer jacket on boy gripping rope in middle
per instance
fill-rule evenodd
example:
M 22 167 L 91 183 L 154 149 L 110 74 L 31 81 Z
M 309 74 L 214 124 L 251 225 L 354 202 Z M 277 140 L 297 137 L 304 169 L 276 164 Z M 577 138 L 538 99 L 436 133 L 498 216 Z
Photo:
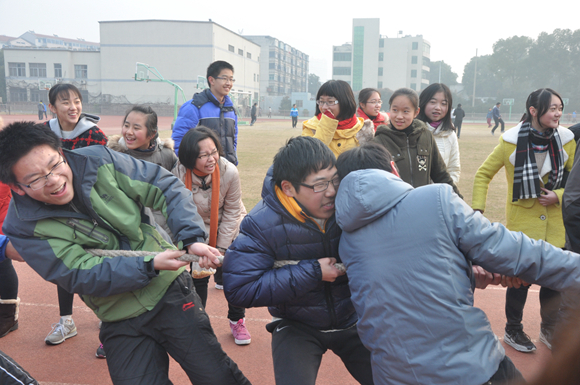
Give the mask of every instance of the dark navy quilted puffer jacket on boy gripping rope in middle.
M 274 317 L 291 319 L 320 330 L 353 325 L 356 313 L 346 276 L 323 282 L 319 258 L 338 256 L 340 229 L 334 216 L 322 233 L 314 222 L 301 223 L 282 206 L 274 190 L 272 168 L 262 200 L 240 226 L 223 265 L 224 291 L 235 306 L 268 306 Z M 273 269 L 275 260 L 298 265 Z

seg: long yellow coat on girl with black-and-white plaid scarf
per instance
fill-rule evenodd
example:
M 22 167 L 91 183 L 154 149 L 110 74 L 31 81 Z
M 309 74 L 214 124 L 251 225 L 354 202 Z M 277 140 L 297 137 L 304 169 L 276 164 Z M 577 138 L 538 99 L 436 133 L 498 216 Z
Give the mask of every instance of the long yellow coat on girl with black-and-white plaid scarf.
M 521 123 L 508 130 L 499 138 L 499 144 L 487 157 L 485 162 L 479 167 L 473 182 L 473 201 L 471 206 L 474 210 L 485 210 L 487 190 L 494 175 L 505 167 L 505 174 L 508 183 L 506 201 L 506 227 L 513 231 L 521 231 L 533 239 L 545 240 L 556 247 L 564 247 L 565 229 L 562 220 L 562 195 L 564 189 L 554 190 L 558 196 L 558 203 L 550 206 L 542 206 L 538 199 L 519 199 L 512 202 L 514 185 L 514 164 L 515 150 L 518 140 L 518 132 Z M 566 127 L 558 127 L 558 133 L 564 149 L 564 169 L 570 171 L 574 163 L 574 152 L 576 142 L 574 134 Z M 541 185 L 548 182 L 550 171 L 552 170 L 550 156 L 546 156 L 544 164 L 538 165 L 538 172 L 542 178 Z

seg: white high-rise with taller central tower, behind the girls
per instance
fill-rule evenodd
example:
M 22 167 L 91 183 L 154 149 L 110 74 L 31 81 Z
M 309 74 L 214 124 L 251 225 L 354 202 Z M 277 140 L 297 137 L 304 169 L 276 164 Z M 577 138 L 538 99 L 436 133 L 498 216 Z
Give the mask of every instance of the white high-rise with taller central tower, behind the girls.
M 354 91 L 363 88 L 429 85 L 431 46 L 423 36 L 381 36 L 380 19 L 353 19 L 352 43 L 333 46 L 332 78 L 347 81 Z

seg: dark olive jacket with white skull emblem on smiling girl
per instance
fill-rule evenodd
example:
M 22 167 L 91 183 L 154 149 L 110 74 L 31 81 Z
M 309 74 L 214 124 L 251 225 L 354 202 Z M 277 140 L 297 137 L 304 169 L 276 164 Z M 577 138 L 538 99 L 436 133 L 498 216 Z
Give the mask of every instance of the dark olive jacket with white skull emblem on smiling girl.
M 424 122 L 414 119 L 412 131 L 407 136 L 391 125 L 380 125 L 375 133 L 374 142 L 389 150 L 399 170 L 402 180 L 413 187 L 434 183 L 447 183 L 461 197 L 457 186 L 447 172 L 445 161 L 439 153 L 433 134 Z

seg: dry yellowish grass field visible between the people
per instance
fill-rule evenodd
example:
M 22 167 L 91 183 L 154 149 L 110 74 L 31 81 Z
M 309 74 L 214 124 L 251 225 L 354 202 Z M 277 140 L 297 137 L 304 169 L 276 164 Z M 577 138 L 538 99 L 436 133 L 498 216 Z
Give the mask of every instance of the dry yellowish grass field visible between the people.
M 299 122 L 299 127 L 301 124 Z M 238 134 L 238 158 L 242 179 L 243 200 L 248 212 L 260 200 L 262 182 L 274 154 L 290 137 L 300 135 L 301 129 L 291 128 L 288 121 L 258 120 L 250 126 L 240 126 Z M 509 126 L 508 126 L 509 127 Z M 508 128 L 506 127 L 506 129 Z M 499 130 L 498 130 L 499 131 Z M 162 136 L 169 136 L 165 131 Z M 459 191 L 471 204 L 473 177 L 478 167 L 498 143 L 499 134 L 492 136 L 487 124 L 464 124 L 459 140 L 461 152 L 461 178 Z M 485 215 L 493 222 L 505 224 L 506 179 L 502 170 L 490 184 Z

